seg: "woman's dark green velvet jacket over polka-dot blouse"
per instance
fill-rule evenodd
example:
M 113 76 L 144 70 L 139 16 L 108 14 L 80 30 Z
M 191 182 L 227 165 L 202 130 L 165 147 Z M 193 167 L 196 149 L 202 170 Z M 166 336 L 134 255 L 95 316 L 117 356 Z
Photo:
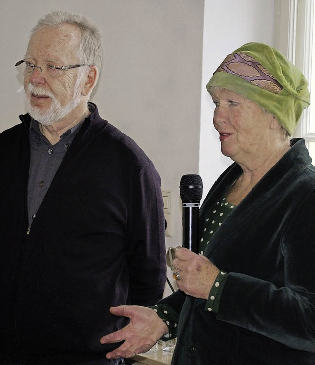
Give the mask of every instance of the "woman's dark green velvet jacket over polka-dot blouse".
M 162 299 L 180 313 L 172 364 L 315 364 L 315 167 L 304 140 L 294 142 L 205 250 L 228 272 L 218 313 L 179 291 Z M 233 164 L 211 188 L 201 229 L 240 173 Z

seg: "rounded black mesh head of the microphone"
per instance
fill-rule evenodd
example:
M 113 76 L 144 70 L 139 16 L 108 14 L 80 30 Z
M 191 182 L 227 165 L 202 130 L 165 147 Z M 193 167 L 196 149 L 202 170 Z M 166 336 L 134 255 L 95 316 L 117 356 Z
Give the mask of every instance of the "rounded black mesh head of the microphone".
M 202 188 L 202 179 L 199 175 L 183 175 L 179 186 L 182 202 L 200 203 Z

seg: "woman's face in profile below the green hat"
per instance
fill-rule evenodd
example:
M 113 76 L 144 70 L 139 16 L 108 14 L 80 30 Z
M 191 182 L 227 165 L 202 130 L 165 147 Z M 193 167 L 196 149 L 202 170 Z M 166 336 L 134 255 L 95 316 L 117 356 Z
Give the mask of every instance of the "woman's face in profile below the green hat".
M 227 89 L 214 88 L 211 96 L 216 106 L 213 124 L 219 132 L 223 155 L 245 165 L 261 158 L 272 143 L 273 116 Z

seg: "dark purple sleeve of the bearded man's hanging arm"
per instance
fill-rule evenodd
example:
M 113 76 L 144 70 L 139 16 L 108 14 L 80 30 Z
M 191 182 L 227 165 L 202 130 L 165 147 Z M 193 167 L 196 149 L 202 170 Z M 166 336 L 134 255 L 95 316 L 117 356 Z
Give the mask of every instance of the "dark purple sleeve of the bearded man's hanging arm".
M 153 305 L 166 282 L 165 218 L 161 180 L 152 163 L 131 182 L 127 255 L 132 305 Z

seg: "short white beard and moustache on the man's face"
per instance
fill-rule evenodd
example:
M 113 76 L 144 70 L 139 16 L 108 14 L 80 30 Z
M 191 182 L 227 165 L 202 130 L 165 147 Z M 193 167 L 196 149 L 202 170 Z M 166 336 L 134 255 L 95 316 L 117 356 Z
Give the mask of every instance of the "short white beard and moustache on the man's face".
M 74 86 L 73 98 L 65 106 L 60 105 L 60 103 L 56 100 L 54 94 L 50 91 L 45 90 L 40 86 L 28 84 L 27 90 L 25 92 L 27 112 L 31 115 L 33 119 L 37 120 L 43 126 L 49 126 L 53 122 L 63 119 L 74 108 L 76 108 L 84 98 L 80 90 L 80 81 L 81 77 L 79 76 Z M 31 93 L 35 95 L 44 95 L 50 97 L 51 106 L 49 110 L 40 110 L 36 106 L 33 106 L 31 104 Z

